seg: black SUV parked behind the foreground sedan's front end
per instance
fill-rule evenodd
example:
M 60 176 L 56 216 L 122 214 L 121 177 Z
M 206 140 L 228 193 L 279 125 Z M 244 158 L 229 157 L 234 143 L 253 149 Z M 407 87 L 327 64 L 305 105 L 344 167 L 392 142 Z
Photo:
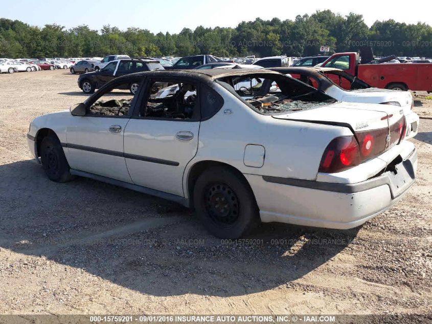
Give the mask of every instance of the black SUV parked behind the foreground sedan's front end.
M 84 93 L 94 93 L 96 89 L 101 88 L 102 85 L 113 78 L 130 73 L 153 70 L 164 70 L 164 68 L 159 61 L 150 59 L 113 60 L 99 71 L 81 74 L 78 78 L 78 87 Z M 132 94 L 135 94 L 138 85 L 138 83 L 125 84 L 118 89 L 129 89 Z

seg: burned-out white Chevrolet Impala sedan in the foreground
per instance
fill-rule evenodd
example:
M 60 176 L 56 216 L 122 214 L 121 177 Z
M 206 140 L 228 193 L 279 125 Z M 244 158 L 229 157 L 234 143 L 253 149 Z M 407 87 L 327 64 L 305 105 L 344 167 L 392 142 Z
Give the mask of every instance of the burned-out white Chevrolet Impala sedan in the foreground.
M 105 100 L 132 82 L 135 95 Z M 164 82 L 179 90 L 154 98 Z M 88 177 L 194 207 L 233 239 L 260 221 L 348 229 L 388 209 L 415 181 L 405 126 L 399 107 L 338 102 L 277 72 L 165 70 L 113 79 L 34 119 L 27 138 L 52 181 Z

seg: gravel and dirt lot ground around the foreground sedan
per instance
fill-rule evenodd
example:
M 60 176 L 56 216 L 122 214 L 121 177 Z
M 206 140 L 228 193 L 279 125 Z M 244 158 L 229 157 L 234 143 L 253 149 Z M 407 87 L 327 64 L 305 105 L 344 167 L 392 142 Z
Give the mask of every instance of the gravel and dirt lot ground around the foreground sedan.
M 29 123 L 83 101 L 76 80 L 0 75 L 0 313 L 432 312 L 432 101 L 415 109 L 417 182 L 390 210 L 353 230 L 267 224 L 248 237 L 260 244 L 224 244 L 174 203 L 48 180 Z

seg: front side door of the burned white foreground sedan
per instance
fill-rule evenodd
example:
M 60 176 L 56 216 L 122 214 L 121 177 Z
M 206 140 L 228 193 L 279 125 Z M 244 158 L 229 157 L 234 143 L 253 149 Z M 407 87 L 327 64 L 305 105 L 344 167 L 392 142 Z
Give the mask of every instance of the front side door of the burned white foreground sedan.
M 67 161 L 73 169 L 130 183 L 123 136 L 133 96 L 113 96 L 110 90 L 92 97 L 85 116 L 72 116 L 66 126 Z

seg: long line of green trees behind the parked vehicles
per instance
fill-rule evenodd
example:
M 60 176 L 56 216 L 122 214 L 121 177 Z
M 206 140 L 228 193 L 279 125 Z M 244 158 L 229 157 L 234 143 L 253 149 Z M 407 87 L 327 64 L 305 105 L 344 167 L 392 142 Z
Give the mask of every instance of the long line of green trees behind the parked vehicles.
M 330 10 L 298 15 L 294 20 L 256 18 L 242 21 L 236 28 L 184 28 L 178 34 L 153 34 L 134 27 L 120 30 L 110 25 L 99 31 L 86 25 L 65 29 L 49 24 L 40 28 L 0 18 L 0 57 L 308 56 L 319 54 L 320 46 L 329 46 L 329 54 L 372 47 L 378 56 L 432 57 L 432 27 L 390 19 L 376 21 L 369 28 L 362 15 L 342 16 Z

